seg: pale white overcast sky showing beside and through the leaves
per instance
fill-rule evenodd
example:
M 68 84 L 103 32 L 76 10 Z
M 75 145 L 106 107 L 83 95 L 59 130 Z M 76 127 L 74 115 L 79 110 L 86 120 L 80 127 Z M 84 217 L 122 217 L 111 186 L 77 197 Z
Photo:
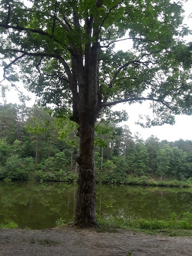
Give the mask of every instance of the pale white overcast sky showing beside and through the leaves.
M 188 16 L 192 13 L 192 0 L 188 0 L 187 3 L 184 4 L 185 8 L 185 20 L 184 23 L 188 24 L 188 26 L 192 29 L 192 18 L 189 19 Z M 186 38 L 186 41 L 192 41 L 192 37 Z M 131 43 L 128 45 L 126 41 L 119 42 L 116 45 L 116 50 L 128 50 L 131 48 Z M 0 80 L 2 76 L 2 69 L 0 70 Z M 20 86 L 23 87 L 22 85 Z M 36 101 L 35 95 L 27 92 L 22 88 L 24 95 L 28 95 L 31 100 L 26 102 L 27 106 L 33 106 Z M 17 97 L 17 93 L 15 90 L 11 90 L 6 95 L 7 103 L 17 103 L 19 104 L 19 99 Z M 0 98 L 0 102 L 3 102 L 2 98 Z M 155 126 L 151 128 L 142 128 L 141 126 L 135 124 L 138 121 L 139 115 L 143 114 L 151 114 L 149 109 L 149 102 L 144 102 L 142 104 L 134 103 L 129 105 L 128 103 L 118 104 L 113 107 L 113 110 L 126 110 L 129 115 L 129 119 L 127 122 L 122 122 L 120 125 L 127 124 L 130 128 L 132 134 L 138 132 L 140 136 L 146 140 L 152 134 L 155 135 L 160 140 L 168 140 L 175 141 L 179 139 L 183 140 L 192 140 L 192 116 L 179 115 L 176 116 L 176 123 L 174 125 L 164 124 L 162 126 Z

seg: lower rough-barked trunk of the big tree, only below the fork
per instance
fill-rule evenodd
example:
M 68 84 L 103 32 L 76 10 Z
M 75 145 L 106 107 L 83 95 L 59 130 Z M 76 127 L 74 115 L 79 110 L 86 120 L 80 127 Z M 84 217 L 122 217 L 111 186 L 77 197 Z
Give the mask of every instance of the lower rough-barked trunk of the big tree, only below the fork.
M 74 225 L 96 227 L 96 189 L 94 163 L 95 121 L 83 114 L 79 123 L 80 155 L 77 205 Z

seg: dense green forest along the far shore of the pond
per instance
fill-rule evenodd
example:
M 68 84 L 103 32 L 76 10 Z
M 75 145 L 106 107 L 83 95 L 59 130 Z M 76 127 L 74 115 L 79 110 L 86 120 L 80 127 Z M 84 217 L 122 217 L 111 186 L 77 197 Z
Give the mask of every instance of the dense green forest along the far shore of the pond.
M 1 104 L 0 180 L 76 182 L 76 128 L 49 108 Z M 96 182 L 192 181 L 191 140 L 159 141 L 151 135 L 144 141 L 128 126 L 101 119 L 95 146 Z

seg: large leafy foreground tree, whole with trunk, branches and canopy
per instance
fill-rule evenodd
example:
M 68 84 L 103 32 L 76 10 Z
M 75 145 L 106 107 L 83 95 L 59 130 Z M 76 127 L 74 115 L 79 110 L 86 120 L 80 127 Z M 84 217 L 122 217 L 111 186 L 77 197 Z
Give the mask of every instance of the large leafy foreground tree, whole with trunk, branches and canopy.
M 156 118 L 150 122 L 147 117 L 148 126 L 173 123 L 174 114 L 192 112 L 187 70 L 191 45 L 182 40 L 188 34 L 182 24 L 182 2 L 1 0 L 0 4 L 4 79 L 15 87 L 23 81 L 41 104 L 54 103 L 63 116 L 78 123 L 74 224 L 96 226 L 94 126 L 100 111 L 120 102 L 150 100 Z M 120 40 L 133 40 L 133 49 L 114 52 Z

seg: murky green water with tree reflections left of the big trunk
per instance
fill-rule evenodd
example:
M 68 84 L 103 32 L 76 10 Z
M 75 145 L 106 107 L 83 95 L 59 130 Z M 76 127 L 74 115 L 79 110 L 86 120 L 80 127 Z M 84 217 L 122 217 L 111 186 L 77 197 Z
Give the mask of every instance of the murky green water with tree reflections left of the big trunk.
M 20 227 L 54 227 L 56 219 L 73 215 L 76 185 L 64 183 L 1 183 L 0 221 L 10 219 Z

